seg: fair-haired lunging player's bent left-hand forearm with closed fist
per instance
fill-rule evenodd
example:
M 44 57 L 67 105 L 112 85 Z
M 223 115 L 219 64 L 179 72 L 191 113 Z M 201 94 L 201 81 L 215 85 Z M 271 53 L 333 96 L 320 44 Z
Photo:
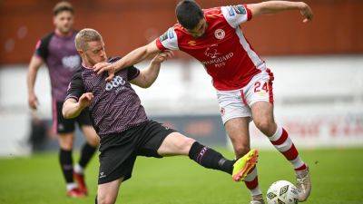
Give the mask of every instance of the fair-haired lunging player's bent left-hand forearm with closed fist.
M 67 99 L 63 104 L 62 113 L 65 119 L 77 117 L 84 108 L 90 106 L 93 100 L 93 93 L 86 92 L 80 97 L 78 102 L 74 98 Z

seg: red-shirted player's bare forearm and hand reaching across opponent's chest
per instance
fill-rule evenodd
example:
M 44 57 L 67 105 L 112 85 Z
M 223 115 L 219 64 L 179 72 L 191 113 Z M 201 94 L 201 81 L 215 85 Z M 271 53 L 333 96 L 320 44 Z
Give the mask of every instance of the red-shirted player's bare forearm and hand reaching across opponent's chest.
M 140 63 L 143 60 L 149 58 L 155 53 L 161 53 L 156 46 L 156 43 L 153 41 L 150 44 L 139 47 L 133 50 L 131 53 L 126 54 L 122 59 L 115 63 L 97 63 L 94 65 L 94 72 L 97 74 L 101 74 L 103 72 L 108 72 L 109 77 L 106 78 L 106 81 L 110 81 L 113 78 L 114 73 L 122 70 L 125 67 L 132 66 L 133 64 Z

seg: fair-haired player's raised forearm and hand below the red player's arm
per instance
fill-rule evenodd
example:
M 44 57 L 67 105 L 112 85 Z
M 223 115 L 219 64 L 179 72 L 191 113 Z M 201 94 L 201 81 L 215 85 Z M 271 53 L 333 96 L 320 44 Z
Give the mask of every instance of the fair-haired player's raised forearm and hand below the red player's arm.
M 160 67 L 162 62 L 168 60 L 173 55 L 172 51 L 164 51 L 163 53 L 158 53 L 150 63 L 149 67 L 143 69 L 140 74 L 133 79 L 130 83 L 135 84 L 144 89 L 149 88 L 152 83 L 158 78 Z

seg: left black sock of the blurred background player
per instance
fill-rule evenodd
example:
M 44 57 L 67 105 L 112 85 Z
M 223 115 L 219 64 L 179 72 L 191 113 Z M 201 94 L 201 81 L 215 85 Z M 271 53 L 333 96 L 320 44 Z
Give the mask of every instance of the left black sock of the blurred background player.
M 72 158 L 72 151 L 62 150 L 59 152 L 59 161 L 64 175 L 64 180 L 67 183 L 74 182 L 74 160 Z

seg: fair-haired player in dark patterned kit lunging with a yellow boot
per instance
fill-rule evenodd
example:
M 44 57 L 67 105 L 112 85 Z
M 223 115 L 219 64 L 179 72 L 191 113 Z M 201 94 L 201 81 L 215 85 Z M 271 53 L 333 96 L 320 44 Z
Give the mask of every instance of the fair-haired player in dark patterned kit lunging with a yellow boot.
M 93 29 L 83 29 L 75 37 L 75 45 L 82 56 L 82 70 L 72 78 L 63 113 L 65 118 L 74 118 L 89 107 L 94 129 L 100 135 L 96 203 L 113 204 L 116 201 L 121 183 L 132 177 L 138 156 L 189 156 L 205 168 L 231 174 L 236 181 L 244 179 L 254 167 L 258 157 L 256 150 L 240 160 L 227 160 L 198 141 L 148 119 L 131 83 L 150 87 L 159 75 L 161 63 L 172 56 L 171 51 L 158 53 L 142 71 L 131 65 L 107 82 L 107 74 L 95 74 L 93 65 L 114 63 L 120 58 L 107 59 L 101 34 Z

